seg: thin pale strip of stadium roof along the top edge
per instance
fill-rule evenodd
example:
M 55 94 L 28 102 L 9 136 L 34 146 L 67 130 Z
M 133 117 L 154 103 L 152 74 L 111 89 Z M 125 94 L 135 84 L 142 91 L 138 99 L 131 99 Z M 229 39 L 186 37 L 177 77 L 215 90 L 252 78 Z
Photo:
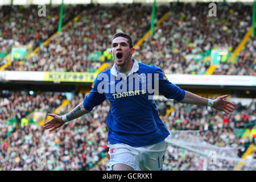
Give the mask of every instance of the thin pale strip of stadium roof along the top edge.
M 12 0 L 0 0 L 0 5 L 11 5 Z M 13 0 L 13 5 L 60 5 L 62 0 Z M 223 0 L 179 0 L 179 2 L 222 2 Z M 254 0 L 225 0 L 226 2 L 253 2 Z M 64 0 L 64 4 L 89 3 L 152 3 L 154 0 Z M 156 0 L 156 3 L 177 2 L 177 0 Z

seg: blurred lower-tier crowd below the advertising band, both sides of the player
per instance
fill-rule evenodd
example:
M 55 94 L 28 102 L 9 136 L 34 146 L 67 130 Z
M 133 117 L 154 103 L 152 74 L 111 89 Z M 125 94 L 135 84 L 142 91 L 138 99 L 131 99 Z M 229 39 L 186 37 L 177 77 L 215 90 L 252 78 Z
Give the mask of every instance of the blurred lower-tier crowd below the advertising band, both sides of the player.
M 71 110 L 82 102 L 84 97 L 85 94 L 75 94 L 69 104 L 57 114 L 61 115 Z M 39 123 L 33 121 L 10 130 L 12 124 L 6 119 L 14 117 L 14 114 L 10 113 L 16 115 L 20 113 L 24 117 L 28 110 L 36 108 L 53 113 L 64 98 L 65 96 L 60 93 L 40 93 L 40 95 L 18 91 L 1 93 L 0 168 L 2 170 L 108 170 L 106 146 L 108 129 L 105 123 L 109 110 L 108 101 L 104 101 L 89 114 L 68 122 L 52 133 L 43 130 Z M 170 105 L 170 102 L 166 101 L 156 101 L 156 104 L 168 130 L 200 130 L 201 137 L 214 146 L 243 146 L 246 140 L 239 135 L 236 136 L 235 129 L 244 127 L 246 123 L 255 122 L 253 114 L 255 101 L 245 107 L 237 108 L 237 111 L 229 115 L 214 111 L 210 107 L 181 105 L 175 102 Z M 173 111 L 165 115 L 170 107 L 173 107 Z M 180 150 L 173 146 L 168 147 L 164 169 L 200 170 L 202 168 L 201 158 Z M 106 160 L 97 166 L 102 158 Z

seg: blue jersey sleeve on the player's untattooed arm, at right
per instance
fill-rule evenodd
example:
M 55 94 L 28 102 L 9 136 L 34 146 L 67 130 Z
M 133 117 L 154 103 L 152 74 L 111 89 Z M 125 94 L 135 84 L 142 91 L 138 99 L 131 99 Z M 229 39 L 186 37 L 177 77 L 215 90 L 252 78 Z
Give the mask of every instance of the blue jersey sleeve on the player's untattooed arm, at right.
M 183 100 L 185 90 L 180 89 L 179 86 L 168 81 L 167 77 L 160 68 L 156 66 L 153 67 L 155 69 L 154 72 L 159 74 L 159 93 L 163 94 L 164 97 L 174 99 L 177 102 Z

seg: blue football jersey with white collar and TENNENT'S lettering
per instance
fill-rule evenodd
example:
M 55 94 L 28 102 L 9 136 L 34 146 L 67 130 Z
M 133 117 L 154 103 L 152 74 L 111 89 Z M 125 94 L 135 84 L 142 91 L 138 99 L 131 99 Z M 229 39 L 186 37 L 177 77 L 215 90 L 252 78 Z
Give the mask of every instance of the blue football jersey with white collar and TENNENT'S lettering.
M 106 118 L 108 144 L 142 147 L 161 142 L 170 133 L 150 96 L 159 92 L 178 102 L 185 96 L 185 91 L 168 81 L 160 68 L 138 63 L 135 59 L 133 62 L 127 76 L 118 73 L 115 64 L 98 73 L 92 90 L 84 99 L 84 108 L 88 111 L 106 98 L 110 101 Z

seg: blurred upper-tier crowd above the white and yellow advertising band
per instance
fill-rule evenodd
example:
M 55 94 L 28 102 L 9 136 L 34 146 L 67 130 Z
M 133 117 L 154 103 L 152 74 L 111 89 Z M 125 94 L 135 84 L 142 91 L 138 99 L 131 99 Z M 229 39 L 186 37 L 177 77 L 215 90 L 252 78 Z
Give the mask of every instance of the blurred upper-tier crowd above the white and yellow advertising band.
M 76 13 L 65 13 L 74 9 Z M 159 65 L 166 74 L 204 74 L 210 65 L 209 57 L 212 49 L 224 48 L 233 52 L 241 42 L 243 35 L 250 27 L 249 9 L 250 6 L 242 4 L 233 3 L 222 6 L 218 3 L 217 17 L 210 17 L 209 8 L 205 3 L 197 3 L 195 6 L 184 3 L 172 4 L 169 7 L 157 6 L 155 23 L 164 13 L 169 12 L 169 15 L 160 26 L 155 27 L 154 34 L 148 36 L 141 46 L 137 47 L 134 56 L 142 63 Z M 66 19 L 74 18 L 79 12 L 81 16 L 71 21 L 68 27 L 63 27 L 61 34 L 52 38 L 47 46 L 40 47 L 34 56 L 13 61 L 6 70 L 94 72 L 102 63 L 112 60 L 110 42 L 116 31 L 126 32 L 131 35 L 134 43 L 137 43 L 150 28 L 151 6 L 97 5 L 79 10 L 76 7 L 64 10 L 68 15 L 68 17 L 64 16 Z M 23 11 L 28 12 L 26 9 Z M 8 15 L 10 17 L 6 18 L 8 21 L 2 26 L 7 28 L 11 27 L 7 26 L 9 24 L 22 23 L 19 22 L 19 16 L 28 17 L 29 20 L 34 17 L 32 15 L 34 11 L 24 15 L 10 14 Z M 24 32 L 26 36 L 22 34 L 22 39 L 11 39 L 11 35 L 18 33 L 13 34 L 12 31 L 7 31 L 9 33 L 2 33 L 6 34 L 4 38 L 7 36 L 4 42 L 8 43 L 7 40 L 11 40 L 12 43 L 23 41 L 23 44 L 28 44 L 32 41 L 34 45 L 38 45 L 42 42 L 41 39 L 49 38 L 52 31 L 56 31 L 53 25 L 57 20 L 55 14 L 58 12 L 58 9 L 53 9 L 47 16 L 48 19 L 45 18 L 46 20 L 34 18 L 39 21 L 39 24 L 43 22 L 43 25 L 46 24 L 46 27 L 49 27 L 47 31 L 42 28 L 40 32 L 35 33 L 40 35 L 39 38 L 36 38 L 33 33 L 29 34 L 31 30 L 32 32 L 36 30 L 29 26 L 20 26 L 20 32 Z M 12 21 L 9 22 L 9 19 Z M 48 32 L 50 30 L 51 32 Z M 6 49 L 6 46 L 3 45 L 1 49 Z M 255 75 L 254 54 L 255 40 L 250 39 L 238 55 L 235 64 L 225 60 L 217 65 L 213 74 Z M 6 63 L 6 60 L 1 63 Z

